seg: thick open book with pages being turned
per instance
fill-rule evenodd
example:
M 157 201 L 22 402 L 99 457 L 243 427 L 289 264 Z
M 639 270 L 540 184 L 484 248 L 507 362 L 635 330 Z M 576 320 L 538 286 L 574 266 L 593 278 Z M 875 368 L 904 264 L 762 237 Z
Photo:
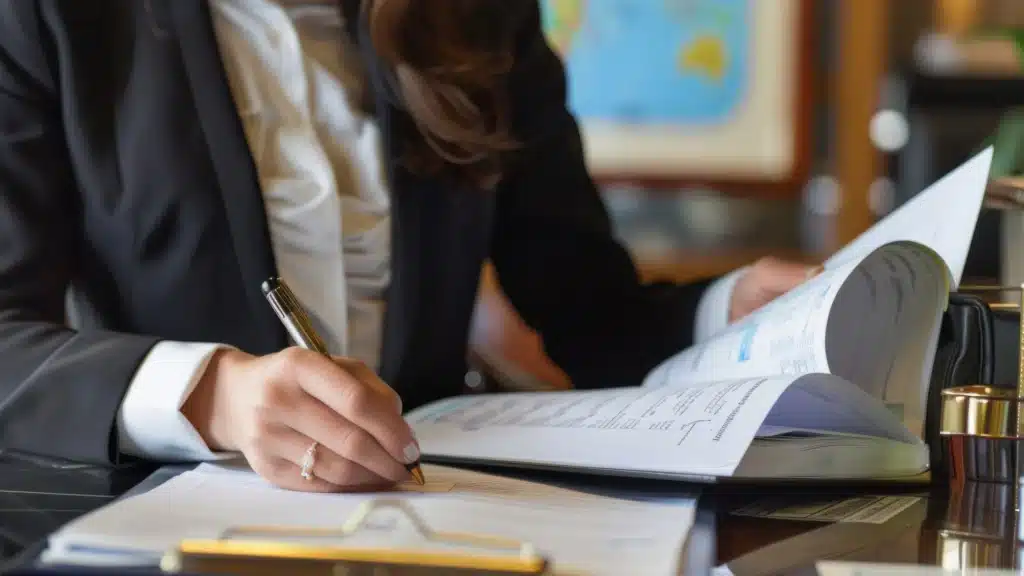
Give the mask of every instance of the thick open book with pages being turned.
M 467 396 L 408 416 L 428 460 L 712 482 L 926 471 L 927 387 L 988 180 L 979 154 L 824 272 L 643 382 Z

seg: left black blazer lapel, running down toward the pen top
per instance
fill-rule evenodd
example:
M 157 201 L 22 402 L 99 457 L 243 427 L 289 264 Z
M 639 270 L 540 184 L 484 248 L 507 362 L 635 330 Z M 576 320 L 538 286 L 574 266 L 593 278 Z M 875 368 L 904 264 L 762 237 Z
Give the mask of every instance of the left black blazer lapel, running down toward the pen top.
M 274 352 L 288 340 L 260 288 L 276 270 L 266 212 L 256 167 L 227 84 L 209 7 L 205 0 L 168 0 L 166 5 L 172 13 L 200 129 L 206 136 L 224 199 L 236 257 L 252 307 L 253 325 L 260 334 L 266 334 L 264 349 L 248 352 Z

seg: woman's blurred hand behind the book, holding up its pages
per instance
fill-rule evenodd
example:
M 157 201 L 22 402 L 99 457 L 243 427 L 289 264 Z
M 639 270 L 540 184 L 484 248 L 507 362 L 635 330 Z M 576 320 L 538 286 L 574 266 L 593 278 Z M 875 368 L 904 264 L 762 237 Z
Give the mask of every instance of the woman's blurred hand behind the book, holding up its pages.
M 735 322 L 817 276 L 821 266 L 808 266 L 776 258 L 762 258 L 736 281 L 729 305 Z

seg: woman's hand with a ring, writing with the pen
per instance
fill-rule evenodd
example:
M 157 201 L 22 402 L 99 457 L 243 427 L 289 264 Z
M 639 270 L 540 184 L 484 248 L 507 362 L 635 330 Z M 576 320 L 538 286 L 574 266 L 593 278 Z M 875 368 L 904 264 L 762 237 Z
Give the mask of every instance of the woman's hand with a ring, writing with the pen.
M 213 450 L 240 451 L 282 488 L 381 488 L 410 478 L 419 447 L 401 401 L 372 370 L 314 352 L 215 353 L 182 409 Z M 301 463 L 313 441 L 311 480 Z

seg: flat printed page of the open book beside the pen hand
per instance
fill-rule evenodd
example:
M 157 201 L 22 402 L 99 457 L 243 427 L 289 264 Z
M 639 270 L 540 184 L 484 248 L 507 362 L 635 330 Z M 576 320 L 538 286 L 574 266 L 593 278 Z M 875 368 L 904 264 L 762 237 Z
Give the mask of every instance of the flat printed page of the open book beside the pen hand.
M 792 381 L 485 395 L 450 399 L 407 419 L 427 455 L 640 476 L 728 476 Z

